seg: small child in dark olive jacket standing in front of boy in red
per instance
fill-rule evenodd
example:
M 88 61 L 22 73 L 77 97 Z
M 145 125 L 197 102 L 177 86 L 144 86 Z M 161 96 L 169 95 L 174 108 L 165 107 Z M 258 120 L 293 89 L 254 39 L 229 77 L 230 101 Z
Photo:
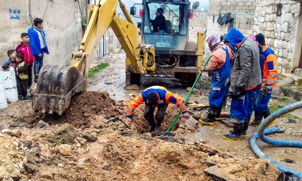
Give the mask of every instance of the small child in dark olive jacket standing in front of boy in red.
M 19 86 L 21 90 L 21 94 L 18 95 L 19 100 L 24 98 L 24 100 L 27 100 L 27 85 L 28 85 L 28 71 L 27 71 L 27 65 L 24 62 L 24 56 L 22 53 L 16 54 L 16 60 L 18 62 L 18 66 L 16 68 L 16 71 L 18 73 L 18 80 L 19 80 Z

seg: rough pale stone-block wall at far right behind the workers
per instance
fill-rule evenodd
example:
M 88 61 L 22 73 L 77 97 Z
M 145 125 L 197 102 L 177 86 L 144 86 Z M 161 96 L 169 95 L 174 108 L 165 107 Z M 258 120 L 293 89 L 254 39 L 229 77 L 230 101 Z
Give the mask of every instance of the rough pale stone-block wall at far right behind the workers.
M 281 1 L 283 5 L 281 16 L 276 15 L 276 5 L 278 1 L 259 1 L 255 11 L 255 33 L 263 33 L 266 44 L 270 46 L 277 55 L 278 71 L 291 72 L 295 37 L 297 30 L 298 17 L 300 14 L 300 3 L 295 1 Z M 298 55 L 301 51 L 297 49 Z M 297 57 L 297 59 L 299 59 Z

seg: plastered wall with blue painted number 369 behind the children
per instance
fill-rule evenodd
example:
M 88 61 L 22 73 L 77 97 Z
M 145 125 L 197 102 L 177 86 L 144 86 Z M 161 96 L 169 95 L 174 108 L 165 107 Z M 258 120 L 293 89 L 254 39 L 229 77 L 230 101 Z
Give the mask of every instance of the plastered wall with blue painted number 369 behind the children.
M 79 0 L 79 4 L 85 19 L 85 0 Z M 71 52 L 78 49 L 82 39 L 79 4 L 74 0 L 16 0 L 2 3 L 0 13 L 4 15 L 0 16 L 0 63 L 7 59 L 7 50 L 14 49 L 20 43 L 20 35 L 31 27 L 31 21 L 39 17 L 43 19 L 50 51 L 50 55 L 45 55 L 44 63 L 69 64 Z M 17 10 L 16 14 L 13 10 Z M 17 15 L 20 18 L 10 18 Z

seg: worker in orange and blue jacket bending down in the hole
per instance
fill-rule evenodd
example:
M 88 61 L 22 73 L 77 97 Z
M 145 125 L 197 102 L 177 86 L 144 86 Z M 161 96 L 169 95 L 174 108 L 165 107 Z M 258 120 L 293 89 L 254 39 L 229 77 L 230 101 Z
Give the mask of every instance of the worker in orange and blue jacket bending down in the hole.
M 182 99 L 175 94 L 172 94 L 165 87 L 152 86 L 145 89 L 139 96 L 131 101 L 129 104 L 126 114 L 129 123 L 132 123 L 131 118 L 133 117 L 133 111 L 141 104 L 145 102 L 144 118 L 148 121 L 149 127 L 147 132 L 158 132 L 159 127 L 164 119 L 165 112 L 168 104 L 176 104 L 182 111 L 182 115 L 188 119 L 189 114 L 182 102 Z M 154 117 L 154 110 L 157 109 L 157 113 Z

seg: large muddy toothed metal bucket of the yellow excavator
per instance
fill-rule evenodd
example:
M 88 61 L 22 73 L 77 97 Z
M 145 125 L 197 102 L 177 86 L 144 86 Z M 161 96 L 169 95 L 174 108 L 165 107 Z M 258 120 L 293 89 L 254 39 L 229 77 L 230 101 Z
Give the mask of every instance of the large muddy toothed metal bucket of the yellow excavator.
M 62 115 L 68 108 L 71 97 L 86 91 L 87 79 L 76 67 L 66 65 L 44 65 L 39 74 L 33 110 L 47 110 Z

